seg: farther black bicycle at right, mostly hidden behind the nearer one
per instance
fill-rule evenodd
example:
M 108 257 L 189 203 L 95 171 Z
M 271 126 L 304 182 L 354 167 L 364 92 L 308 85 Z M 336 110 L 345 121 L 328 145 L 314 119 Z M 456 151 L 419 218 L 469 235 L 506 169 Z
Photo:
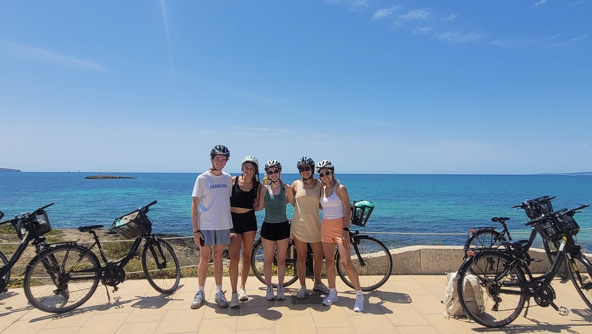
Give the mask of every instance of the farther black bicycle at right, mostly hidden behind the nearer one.
M 525 210 L 526 216 L 529 217 L 530 220 L 532 220 L 540 217 L 542 214 L 552 212 L 553 207 L 551 204 L 551 200 L 553 200 L 554 198 L 555 196 L 545 195 L 533 198 L 532 200 L 526 200 L 523 203 L 513 205 L 510 208 L 522 208 L 523 210 Z M 500 223 L 501 226 L 503 226 L 503 230 L 501 232 L 498 232 L 496 230 L 496 225 L 491 225 L 488 227 L 473 227 L 471 230 L 469 230 L 468 237 L 466 239 L 464 246 L 465 254 L 467 251 L 469 251 L 469 249 L 492 248 L 499 245 L 499 243 L 502 241 L 513 240 L 506 224 L 506 221 L 508 220 L 510 220 L 508 217 L 491 218 L 491 221 L 493 221 L 494 223 Z M 543 249 L 545 249 L 545 254 L 549 259 L 550 264 L 553 264 L 553 262 L 555 262 L 558 248 L 559 242 L 551 242 L 549 240 L 543 239 Z M 561 266 L 559 266 L 557 274 L 562 279 L 568 278 L 567 264 L 562 264 Z

